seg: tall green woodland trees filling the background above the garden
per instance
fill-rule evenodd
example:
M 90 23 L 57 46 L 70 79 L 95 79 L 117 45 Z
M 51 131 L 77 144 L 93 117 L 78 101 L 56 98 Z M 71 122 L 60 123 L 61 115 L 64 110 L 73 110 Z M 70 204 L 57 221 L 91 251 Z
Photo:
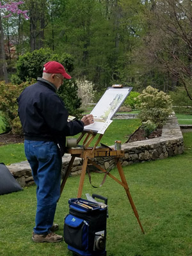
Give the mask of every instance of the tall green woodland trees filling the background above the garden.
M 9 74 L 18 56 L 49 48 L 72 54 L 72 76 L 98 92 L 118 83 L 139 92 L 182 86 L 191 97 L 190 0 L 26 0 L 19 8 L 29 19 L 1 13 Z

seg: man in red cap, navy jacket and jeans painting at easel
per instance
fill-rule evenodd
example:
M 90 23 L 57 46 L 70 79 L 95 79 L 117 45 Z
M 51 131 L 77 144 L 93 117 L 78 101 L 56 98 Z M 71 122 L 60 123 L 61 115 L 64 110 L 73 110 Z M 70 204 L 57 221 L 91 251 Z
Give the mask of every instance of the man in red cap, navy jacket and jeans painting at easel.
M 93 116 L 67 122 L 68 111 L 56 91 L 64 79 L 71 77 L 63 65 L 49 61 L 43 76 L 28 86 L 19 96 L 19 118 L 24 131 L 24 149 L 36 183 L 36 218 L 33 241 L 60 242 L 63 237 L 54 233 L 56 203 L 60 198 L 61 157 L 65 150 L 65 136 L 83 131 L 93 123 Z

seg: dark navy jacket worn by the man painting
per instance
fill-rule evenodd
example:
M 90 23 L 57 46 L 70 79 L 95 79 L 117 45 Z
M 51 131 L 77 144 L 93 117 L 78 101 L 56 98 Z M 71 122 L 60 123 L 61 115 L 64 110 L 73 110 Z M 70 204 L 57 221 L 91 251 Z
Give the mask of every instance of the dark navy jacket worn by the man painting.
M 17 101 L 26 140 L 55 141 L 65 145 L 65 136 L 83 131 L 82 121 L 67 122 L 68 111 L 63 101 L 45 81 L 28 86 Z

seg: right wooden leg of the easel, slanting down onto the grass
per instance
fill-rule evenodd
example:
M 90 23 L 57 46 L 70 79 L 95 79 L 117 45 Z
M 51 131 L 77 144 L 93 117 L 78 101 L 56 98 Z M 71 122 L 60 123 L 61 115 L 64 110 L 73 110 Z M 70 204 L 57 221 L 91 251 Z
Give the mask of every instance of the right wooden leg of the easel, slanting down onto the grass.
M 122 183 L 125 185 L 124 186 L 124 189 L 125 189 L 125 192 L 127 193 L 127 197 L 129 199 L 129 202 L 131 204 L 131 207 L 132 207 L 132 211 L 134 212 L 134 215 L 136 216 L 137 220 L 138 220 L 138 223 L 140 225 L 140 228 L 141 228 L 141 231 L 143 232 L 143 234 L 145 233 L 144 230 L 143 230 L 143 227 L 141 225 L 141 222 L 140 222 L 140 217 L 139 217 L 139 214 L 138 214 L 138 211 L 136 210 L 136 207 L 134 205 L 134 202 L 132 200 L 132 197 L 131 197 L 131 193 L 129 192 L 129 186 L 127 184 L 127 180 L 125 178 L 125 175 L 124 175 L 124 170 L 122 168 L 122 165 L 120 163 L 120 161 L 118 160 L 117 163 L 116 163 L 116 166 L 118 168 L 118 172 L 120 174 L 120 177 L 122 179 Z

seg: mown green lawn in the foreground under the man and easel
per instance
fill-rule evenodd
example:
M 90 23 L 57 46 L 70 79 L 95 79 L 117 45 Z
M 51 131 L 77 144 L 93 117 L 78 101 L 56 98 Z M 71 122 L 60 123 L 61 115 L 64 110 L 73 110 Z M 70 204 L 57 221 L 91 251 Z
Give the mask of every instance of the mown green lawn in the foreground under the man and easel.
M 125 177 L 140 221 L 142 234 L 124 189 L 113 179 L 94 189 L 84 181 L 85 193 L 108 197 L 108 256 L 189 256 L 192 255 L 192 132 L 184 134 L 185 152 L 168 159 L 124 167 Z M 111 174 L 118 177 L 116 169 Z M 92 183 L 100 184 L 103 175 L 92 173 Z M 63 219 L 68 214 L 68 198 L 77 196 L 79 177 L 70 177 L 63 190 L 55 221 L 63 234 Z M 72 256 L 67 244 L 35 244 L 31 231 L 35 221 L 35 186 L 2 195 L 0 205 L 1 256 Z

